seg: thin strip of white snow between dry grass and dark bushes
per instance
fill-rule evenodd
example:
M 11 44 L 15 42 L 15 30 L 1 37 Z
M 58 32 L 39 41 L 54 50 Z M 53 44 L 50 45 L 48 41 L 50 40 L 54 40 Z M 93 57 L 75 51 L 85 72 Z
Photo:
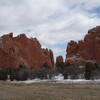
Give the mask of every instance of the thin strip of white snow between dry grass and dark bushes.
M 64 77 L 62 74 L 59 74 L 58 76 L 54 76 L 51 80 L 50 79 L 33 79 L 33 80 L 26 80 L 26 81 L 12 81 L 11 83 L 25 83 L 25 84 L 32 84 L 32 83 L 39 83 L 39 82 L 49 82 L 49 83 L 100 83 L 99 80 L 85 80 L 85 79 L 66 79 L 64 80 Z

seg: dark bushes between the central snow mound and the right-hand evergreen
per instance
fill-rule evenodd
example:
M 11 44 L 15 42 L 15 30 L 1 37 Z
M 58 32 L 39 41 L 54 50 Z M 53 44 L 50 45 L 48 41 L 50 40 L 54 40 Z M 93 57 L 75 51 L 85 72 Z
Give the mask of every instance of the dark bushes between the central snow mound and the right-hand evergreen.
M 58 62 L 56 63 L 56 67 L 58 72 L 63 74 L 64 79 L 68 79 L 69 77 L 71 79 L 78 79 L 79 75 L 84 73 L 84 70 L 81 70 L 82 68 L 70 63 Z

